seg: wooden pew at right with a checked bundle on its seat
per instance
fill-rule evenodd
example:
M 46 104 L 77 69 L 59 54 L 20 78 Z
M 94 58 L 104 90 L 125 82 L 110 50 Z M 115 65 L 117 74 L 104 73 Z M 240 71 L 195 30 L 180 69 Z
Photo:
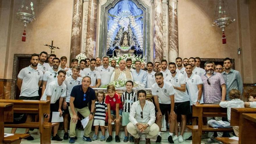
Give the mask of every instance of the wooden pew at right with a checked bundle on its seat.
M 202 131 L 233 131 L 232 128 L 213 128 L 203 125 L 203 117 L 226 117 L 227 108 L 218 104 L 193 104 L 193 117 L 198 117 L 198 125 L 187 125 L 192 130 L 192 143 L 200 144 Z

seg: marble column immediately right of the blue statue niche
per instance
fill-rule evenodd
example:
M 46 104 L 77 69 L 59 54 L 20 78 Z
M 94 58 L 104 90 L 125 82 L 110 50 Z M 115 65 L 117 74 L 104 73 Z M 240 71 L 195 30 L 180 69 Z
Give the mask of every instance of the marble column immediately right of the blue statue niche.
M 163 59 L 162 0 L 154 0 L 154 61 Z

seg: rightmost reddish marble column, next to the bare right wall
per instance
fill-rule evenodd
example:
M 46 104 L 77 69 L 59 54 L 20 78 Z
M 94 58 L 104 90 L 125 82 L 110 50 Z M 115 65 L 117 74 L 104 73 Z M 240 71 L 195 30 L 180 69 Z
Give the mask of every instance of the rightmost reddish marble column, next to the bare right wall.
M 168 59 L 175 62 L 179 53 L 178 38 L 178 2 L 177 0 L 169 0 L 169 29 L 168 29 Z

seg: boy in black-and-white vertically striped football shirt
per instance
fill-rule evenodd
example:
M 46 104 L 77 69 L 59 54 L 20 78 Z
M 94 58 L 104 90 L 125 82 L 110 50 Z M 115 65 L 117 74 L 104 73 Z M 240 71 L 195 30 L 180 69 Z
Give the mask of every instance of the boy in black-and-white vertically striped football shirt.
M 122 126 L 124 126 L 124 129 L 125 129 L 124 142 L 128 142 L 128 131 L 126 129 L 126 126 L 130 122 L 129 113 L 130 113 L 132 103 L 136 102 L 138 99 L 137 99 L 137 94 L 132 91 L 132 88 L 133 88 L 132 81 L 126 81 L 125 87 L 126 87 L 126 92 L 122 94 L 122 104 L 123 104 Z M 134 142 L 134 137 L 130 136 L 129 141 L 131 143 Z

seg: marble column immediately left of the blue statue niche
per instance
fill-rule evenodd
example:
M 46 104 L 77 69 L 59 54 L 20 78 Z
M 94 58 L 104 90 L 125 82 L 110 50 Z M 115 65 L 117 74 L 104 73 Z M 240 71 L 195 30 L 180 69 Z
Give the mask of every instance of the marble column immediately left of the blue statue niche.
M 96 48 L 97 0 L 89 0 L 85 54 L 88 58 L 95 57 Z

